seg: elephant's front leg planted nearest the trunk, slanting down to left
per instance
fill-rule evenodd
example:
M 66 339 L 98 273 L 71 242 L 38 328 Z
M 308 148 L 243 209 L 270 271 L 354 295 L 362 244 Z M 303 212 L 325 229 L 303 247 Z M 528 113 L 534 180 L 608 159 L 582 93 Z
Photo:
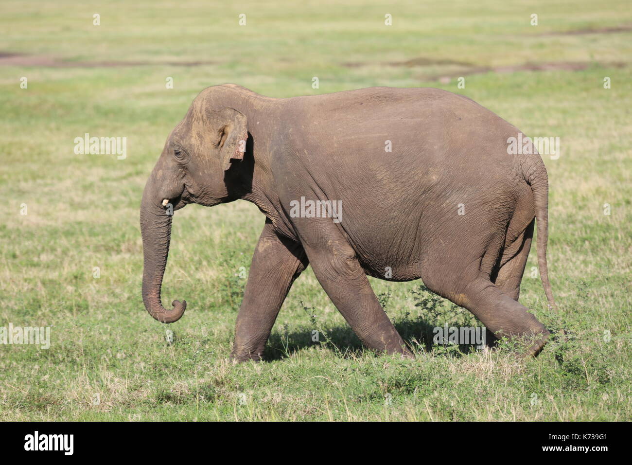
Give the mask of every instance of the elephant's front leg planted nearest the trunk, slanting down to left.
M 301 244 L 277 235 L 270 220 L 266 220 L 237 316 L 233 360 L 261 359 L 289 288 L 307 264 Z

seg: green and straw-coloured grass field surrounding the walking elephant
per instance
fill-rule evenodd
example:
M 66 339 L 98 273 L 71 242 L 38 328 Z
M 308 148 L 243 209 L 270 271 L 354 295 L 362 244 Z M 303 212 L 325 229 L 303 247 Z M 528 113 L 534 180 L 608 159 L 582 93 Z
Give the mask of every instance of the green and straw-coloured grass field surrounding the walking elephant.
M 47 350 L 0 345 L 0 420 L 632 419 L 632 9 L 554 3 L 3 1 L 0 326 L 52 329 Z M 170 326 L 150 318 L 142 189 L 191 100 L 226 82 L 272 97 L 439 87 L 560 137 L 559 159 L 544 157 L 559 309 L 532 277 L 535 241 L 521 303 L 569 340 L 526 361 L 431 346 L 433 326 L 478 323 L 421 282 L 371 279 L 417 354 L 378 356 L 307 270 L 267 361 L 233 365 L 240 267 L 264 224 L 247 202 L 175 214 L 163 302 L 189 307 Z M 126 159 L 76 155 L 84 133 L 126 137 Z

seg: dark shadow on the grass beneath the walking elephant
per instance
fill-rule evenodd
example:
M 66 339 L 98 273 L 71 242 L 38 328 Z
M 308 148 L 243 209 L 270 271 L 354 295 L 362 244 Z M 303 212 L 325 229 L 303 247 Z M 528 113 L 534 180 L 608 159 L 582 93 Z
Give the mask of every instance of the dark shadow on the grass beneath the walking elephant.
M 394 323 L 394 325 L 409 347 L 415 347 L 416 350 L 432 350 L 434 325 L 420 319 L 403 320 Z M 312 330 L 305 329 L 291 333 L 276 330 L 270 335 L 265 347 L 264 360 L 280 360 L 314 345 L 323 345 L 340 357 L 360 356 L 367 350 L 349 326 L 327 328 L 326 333 L 326 335 L 318 333 L 319 340 L 312 340 L 315 338 L 315 333 Z

